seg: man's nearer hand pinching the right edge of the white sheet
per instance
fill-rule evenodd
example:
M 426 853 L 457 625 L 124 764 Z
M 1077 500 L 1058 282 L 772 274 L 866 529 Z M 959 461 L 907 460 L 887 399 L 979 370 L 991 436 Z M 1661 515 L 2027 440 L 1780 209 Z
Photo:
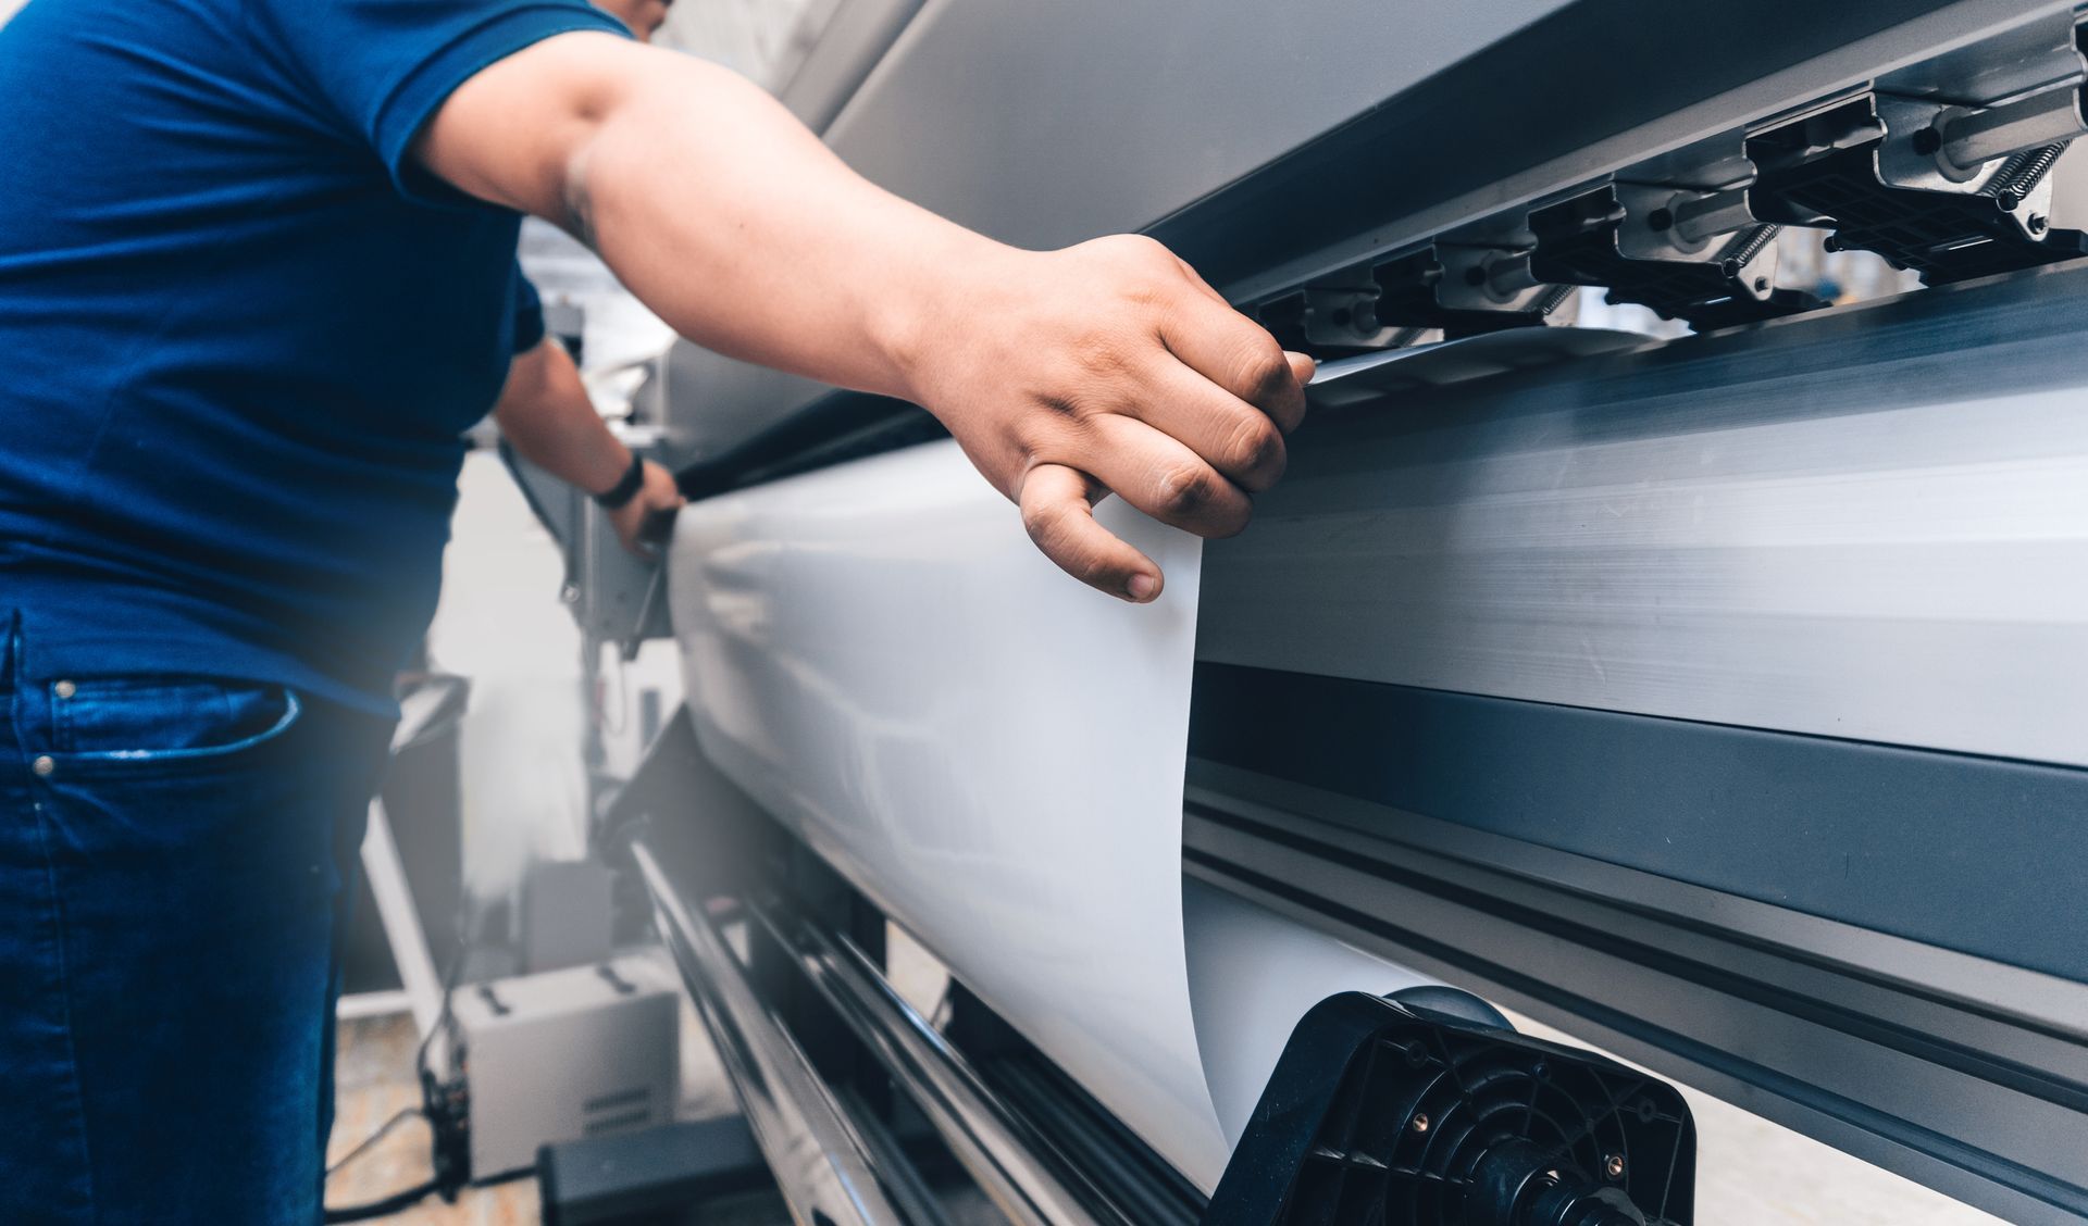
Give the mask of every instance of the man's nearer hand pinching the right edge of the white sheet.
M 1000 248 L 915 359 L 919 402 L 1077 580 L 1134 603 L 1161 571 L 1094 521 L 1111 492 L 1194 532 L 1247 528 L 1284 471 L 1313 361 L 1284 352 L 1165 246 Z M 946 338 L 946 344 L 942 344 Z

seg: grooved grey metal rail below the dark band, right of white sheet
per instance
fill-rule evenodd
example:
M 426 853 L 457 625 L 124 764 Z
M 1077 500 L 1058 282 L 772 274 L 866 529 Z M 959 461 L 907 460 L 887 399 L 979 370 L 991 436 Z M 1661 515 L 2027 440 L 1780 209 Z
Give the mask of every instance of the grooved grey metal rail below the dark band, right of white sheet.
M 2011 1222 L 2088 1220 L 2080 984 L 1209 761 L 1190 782 L 1201 880 Z

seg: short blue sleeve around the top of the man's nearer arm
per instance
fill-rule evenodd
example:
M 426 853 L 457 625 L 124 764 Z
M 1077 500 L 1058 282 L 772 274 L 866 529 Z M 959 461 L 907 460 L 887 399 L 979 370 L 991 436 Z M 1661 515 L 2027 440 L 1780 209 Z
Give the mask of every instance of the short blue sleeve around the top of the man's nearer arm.
M 557 33 L 631 35 L 583 0 L 251 0 L 248 15 L 313 102 L 416 196 L 443 194 L 407 150 L 457 85 Z

